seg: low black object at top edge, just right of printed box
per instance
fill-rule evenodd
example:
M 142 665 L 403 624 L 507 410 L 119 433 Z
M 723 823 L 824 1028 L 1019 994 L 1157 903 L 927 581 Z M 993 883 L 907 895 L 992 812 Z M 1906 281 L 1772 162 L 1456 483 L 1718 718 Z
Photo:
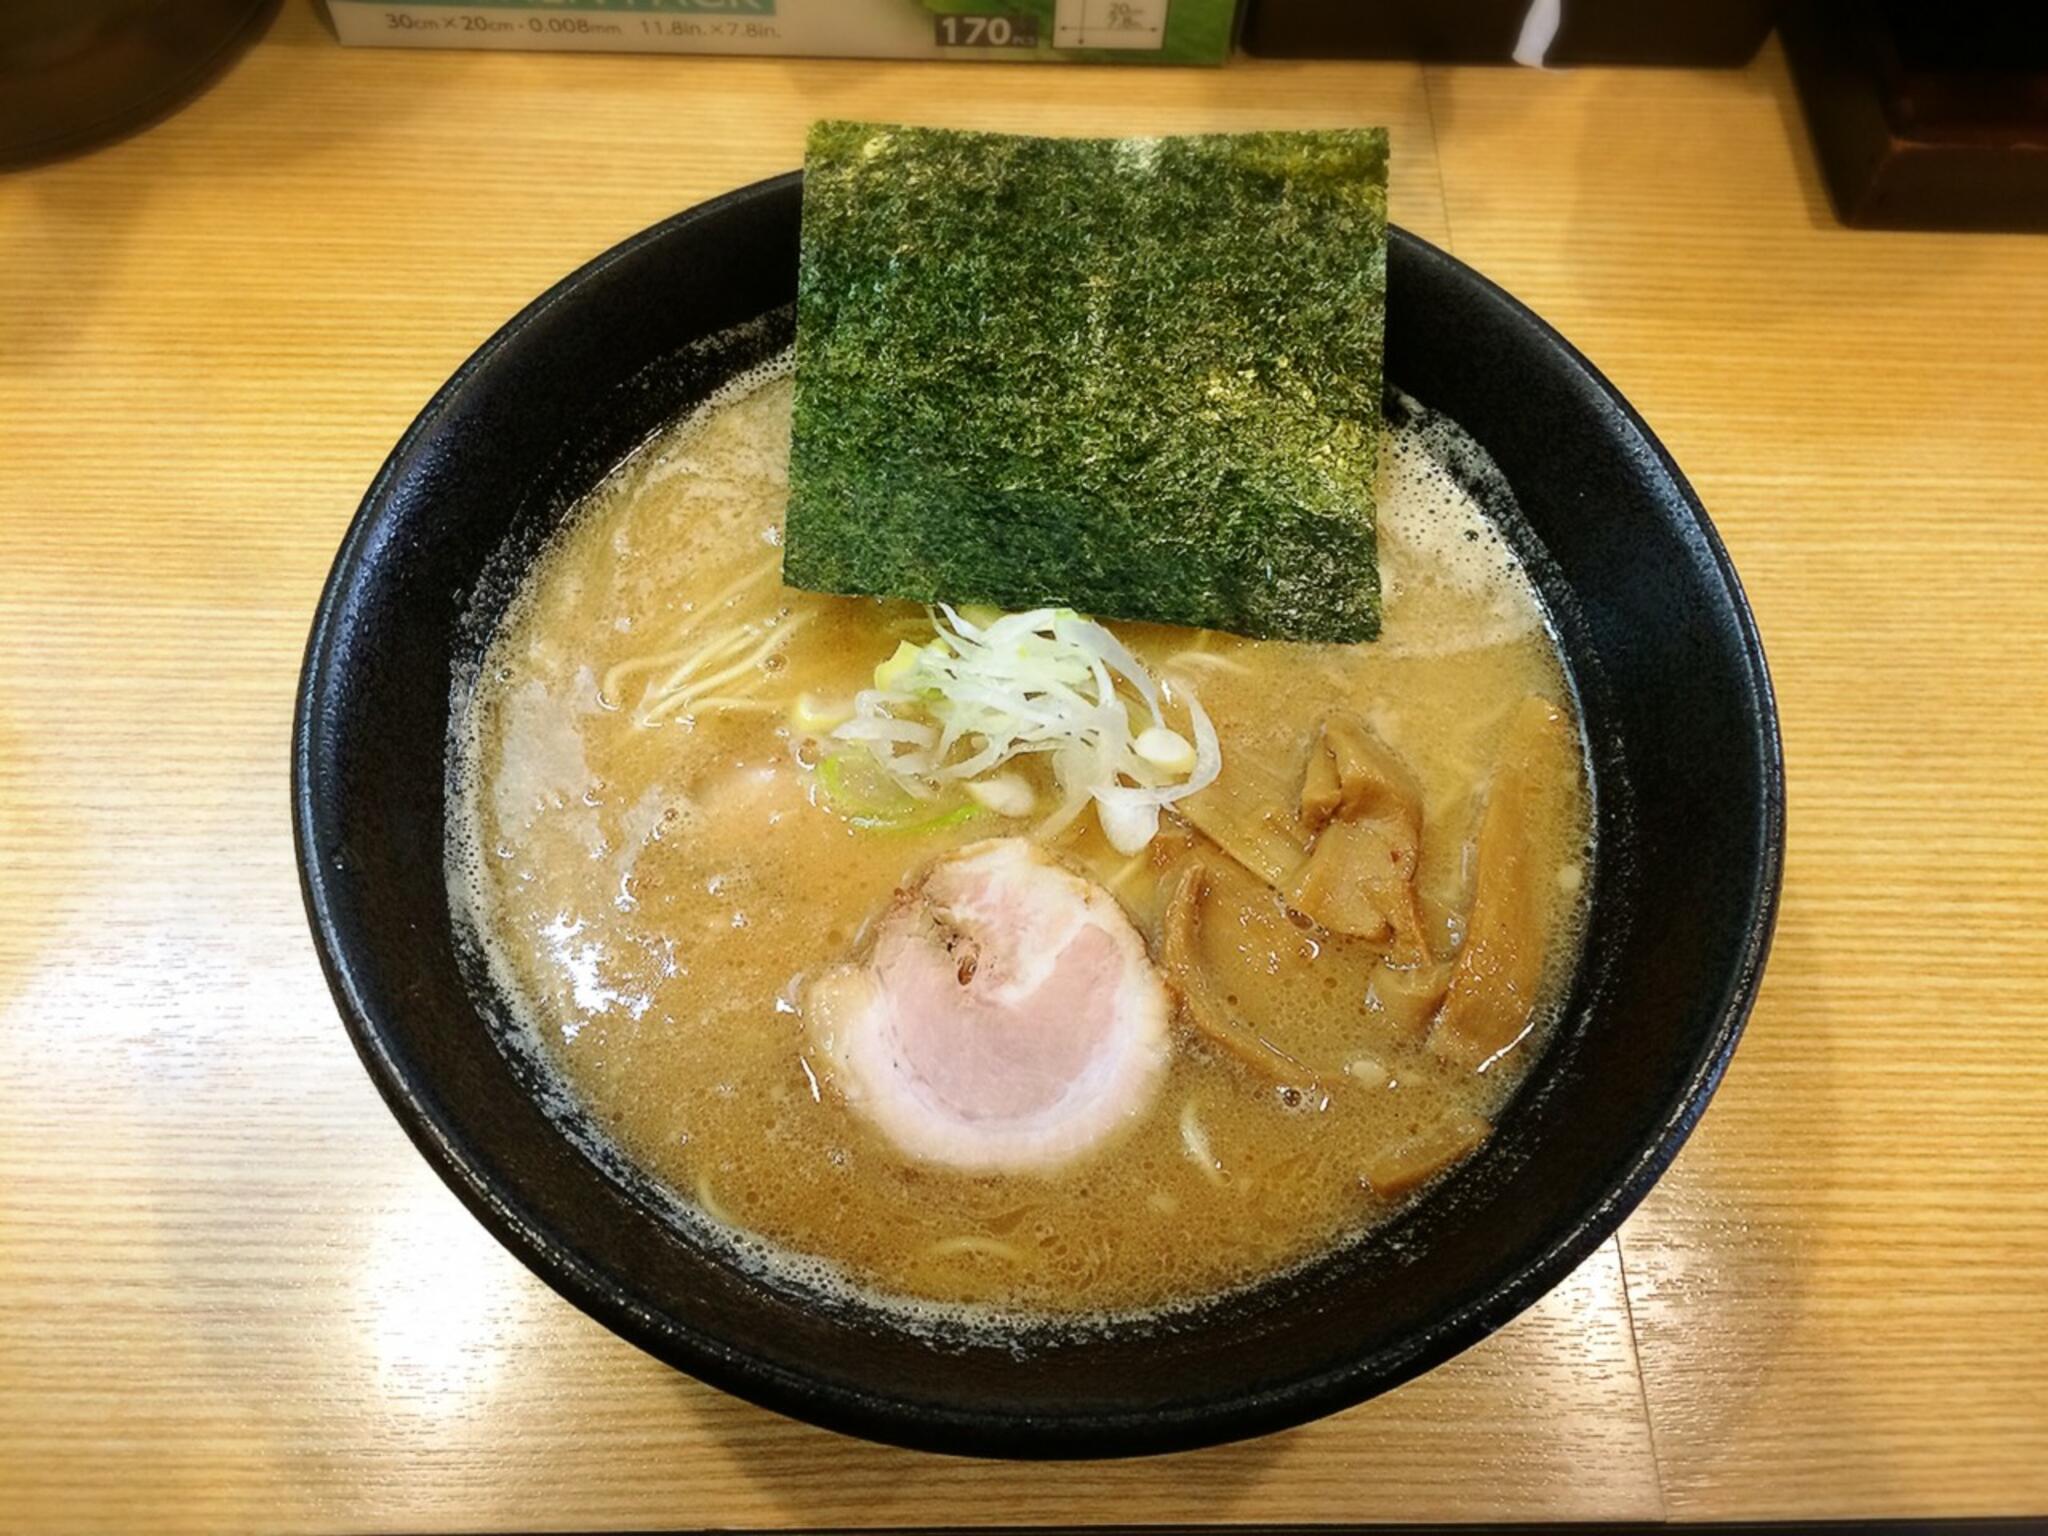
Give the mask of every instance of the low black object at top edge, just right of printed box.
M 1532 0 L 1249 0 L 1243 47 L 1272 59 L 1505 63 Z M 1778 0 L 1563 0 L 1546 63 L 1747 63 Z

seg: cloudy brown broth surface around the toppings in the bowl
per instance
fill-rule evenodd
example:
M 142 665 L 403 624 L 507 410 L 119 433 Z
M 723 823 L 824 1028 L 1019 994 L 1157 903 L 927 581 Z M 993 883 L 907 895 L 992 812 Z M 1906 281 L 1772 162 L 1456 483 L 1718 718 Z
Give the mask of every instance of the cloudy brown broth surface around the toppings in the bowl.
M 1493 1118 L 1540 1053 L 1452 1065 L 1374 1022 L 1376 946 L 1303 930 L 1313 961 L 1245 999 L 1315 1069 L 1286 1092 L 1176 1030 L 1165 1085 L 1104 1151 L 1047 1176 L 920 1165 L 836 1096 L 803 985 L 856 952 L 940 852 L 1022 829 L 850 825 L 784 702 L 850 696 L 911 604 L 780 588 L 791 385 L 743 381 L 633 455 L 565 524 L 508 610 L 463 711 L 451 881 L 498 987 L 573 1098 L 655 1180 L 793 1274 L 1006 1315 L 1186 1305 L 1315 1257 L 1401 1198 L 1362 1169 L 1460 1114 Z M 1571 694 L 1526 575 L 1440 467 L 1430 432 L 1382 444 L 1384 635 L 1257 643 L 1114 625 L 1194 688 L 1225 741 L 1294 776 L 1327 713 L 1358 711 L 1423 791 L 1417 887 L 1448 954 L 1473 889 L 1487 778 L 1516 705 Z M 776 616 L 786 639 L 709 700 L 637 725 L 635 662 Z M 735 662 L 748 662 L 739 651 Z M 764 670 L 766 664 L 766 670 Z M 733 666 L 723 668 L 731 672 Z M 709 676 L 709 672 L 707 672 Z M 606 696 L 606 680 L 623 696 Z M 1575 727 L 1573 727 L 1575 729 Z M 1548 989 L 1577 948 L 1583 778 L 1544 803 Z M 1171 821 L 1171 817 L 1169 817 Z M 1126 860 L 1092 817 L 1057 842 L 1157 946 L 1171 829 Z

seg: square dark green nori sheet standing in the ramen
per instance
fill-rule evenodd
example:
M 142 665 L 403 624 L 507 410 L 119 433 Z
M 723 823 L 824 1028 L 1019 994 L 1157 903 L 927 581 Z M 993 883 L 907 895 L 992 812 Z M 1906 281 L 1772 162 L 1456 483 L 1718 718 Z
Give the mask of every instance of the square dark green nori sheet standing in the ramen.
M 791 586 L 1378 633 L 1386 133 L 817 123 Z

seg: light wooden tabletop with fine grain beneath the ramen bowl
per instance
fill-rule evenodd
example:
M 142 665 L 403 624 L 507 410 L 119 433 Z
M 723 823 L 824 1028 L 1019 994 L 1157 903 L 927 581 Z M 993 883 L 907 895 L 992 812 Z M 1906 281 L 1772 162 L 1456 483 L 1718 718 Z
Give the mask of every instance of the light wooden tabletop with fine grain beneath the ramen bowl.
M 1395 217 L 1692 475 L 1778 678 L 1763 999 L 1577 1276 L 1247 1446 L 879 1450 L 641 1356 L 414 1155 L 299 909 L 299 647 L 506 315 L 819 115 L 1386 123 Z M 346 51 L 0 178 L 0 1526 L 526 1530 L 2048 1509 L 2048 242 L 1839 229 L 1726 74 Z

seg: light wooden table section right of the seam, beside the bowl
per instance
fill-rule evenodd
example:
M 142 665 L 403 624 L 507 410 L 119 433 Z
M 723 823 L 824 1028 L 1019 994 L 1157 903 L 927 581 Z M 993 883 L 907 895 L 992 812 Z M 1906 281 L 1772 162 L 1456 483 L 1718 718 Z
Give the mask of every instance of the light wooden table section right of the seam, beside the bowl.
M 1622 1231 L 1671 1511 L 2040 1513 L 2048 244 L 1837 227 L 1776 53 L 1430 94 L 1458 254 L 1686 465 L 1784 713 L 1763 997 Z

